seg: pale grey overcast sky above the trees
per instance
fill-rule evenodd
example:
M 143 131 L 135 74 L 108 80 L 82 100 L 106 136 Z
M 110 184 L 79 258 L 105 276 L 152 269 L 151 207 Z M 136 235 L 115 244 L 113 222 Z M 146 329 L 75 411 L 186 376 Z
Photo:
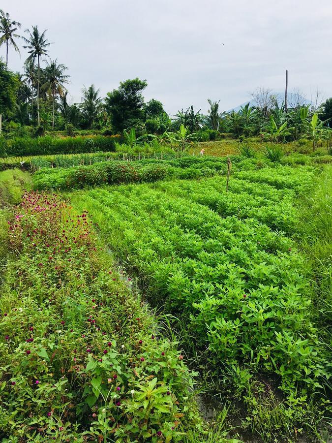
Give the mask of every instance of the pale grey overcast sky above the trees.
M 105 95 L 139 77 L 146 100 L 170 114 L 191 104 L 206 112 L 208 98 L 228 110 L 258 86 L 283 91 L 286 68 L 290 90 L 332 96 L 332 0 L 1 0 L 0 8 L 22 32 L 47 29 L 72 101 L 83 85 Z M 10 49 L 9 68 L 26 57 Z

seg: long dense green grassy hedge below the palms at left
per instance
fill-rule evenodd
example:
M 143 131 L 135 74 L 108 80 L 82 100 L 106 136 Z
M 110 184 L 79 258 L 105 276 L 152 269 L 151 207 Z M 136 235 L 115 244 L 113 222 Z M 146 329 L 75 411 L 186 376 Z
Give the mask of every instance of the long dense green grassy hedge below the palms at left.
M 89 137 L 51 136 L 39 138 L 0 138 L 0 156 L 35 156 L 47 154 L 76 154 L 98 151 L 114 151 L 115 143 L 121 139 L 120 135 L 91 135 Z

